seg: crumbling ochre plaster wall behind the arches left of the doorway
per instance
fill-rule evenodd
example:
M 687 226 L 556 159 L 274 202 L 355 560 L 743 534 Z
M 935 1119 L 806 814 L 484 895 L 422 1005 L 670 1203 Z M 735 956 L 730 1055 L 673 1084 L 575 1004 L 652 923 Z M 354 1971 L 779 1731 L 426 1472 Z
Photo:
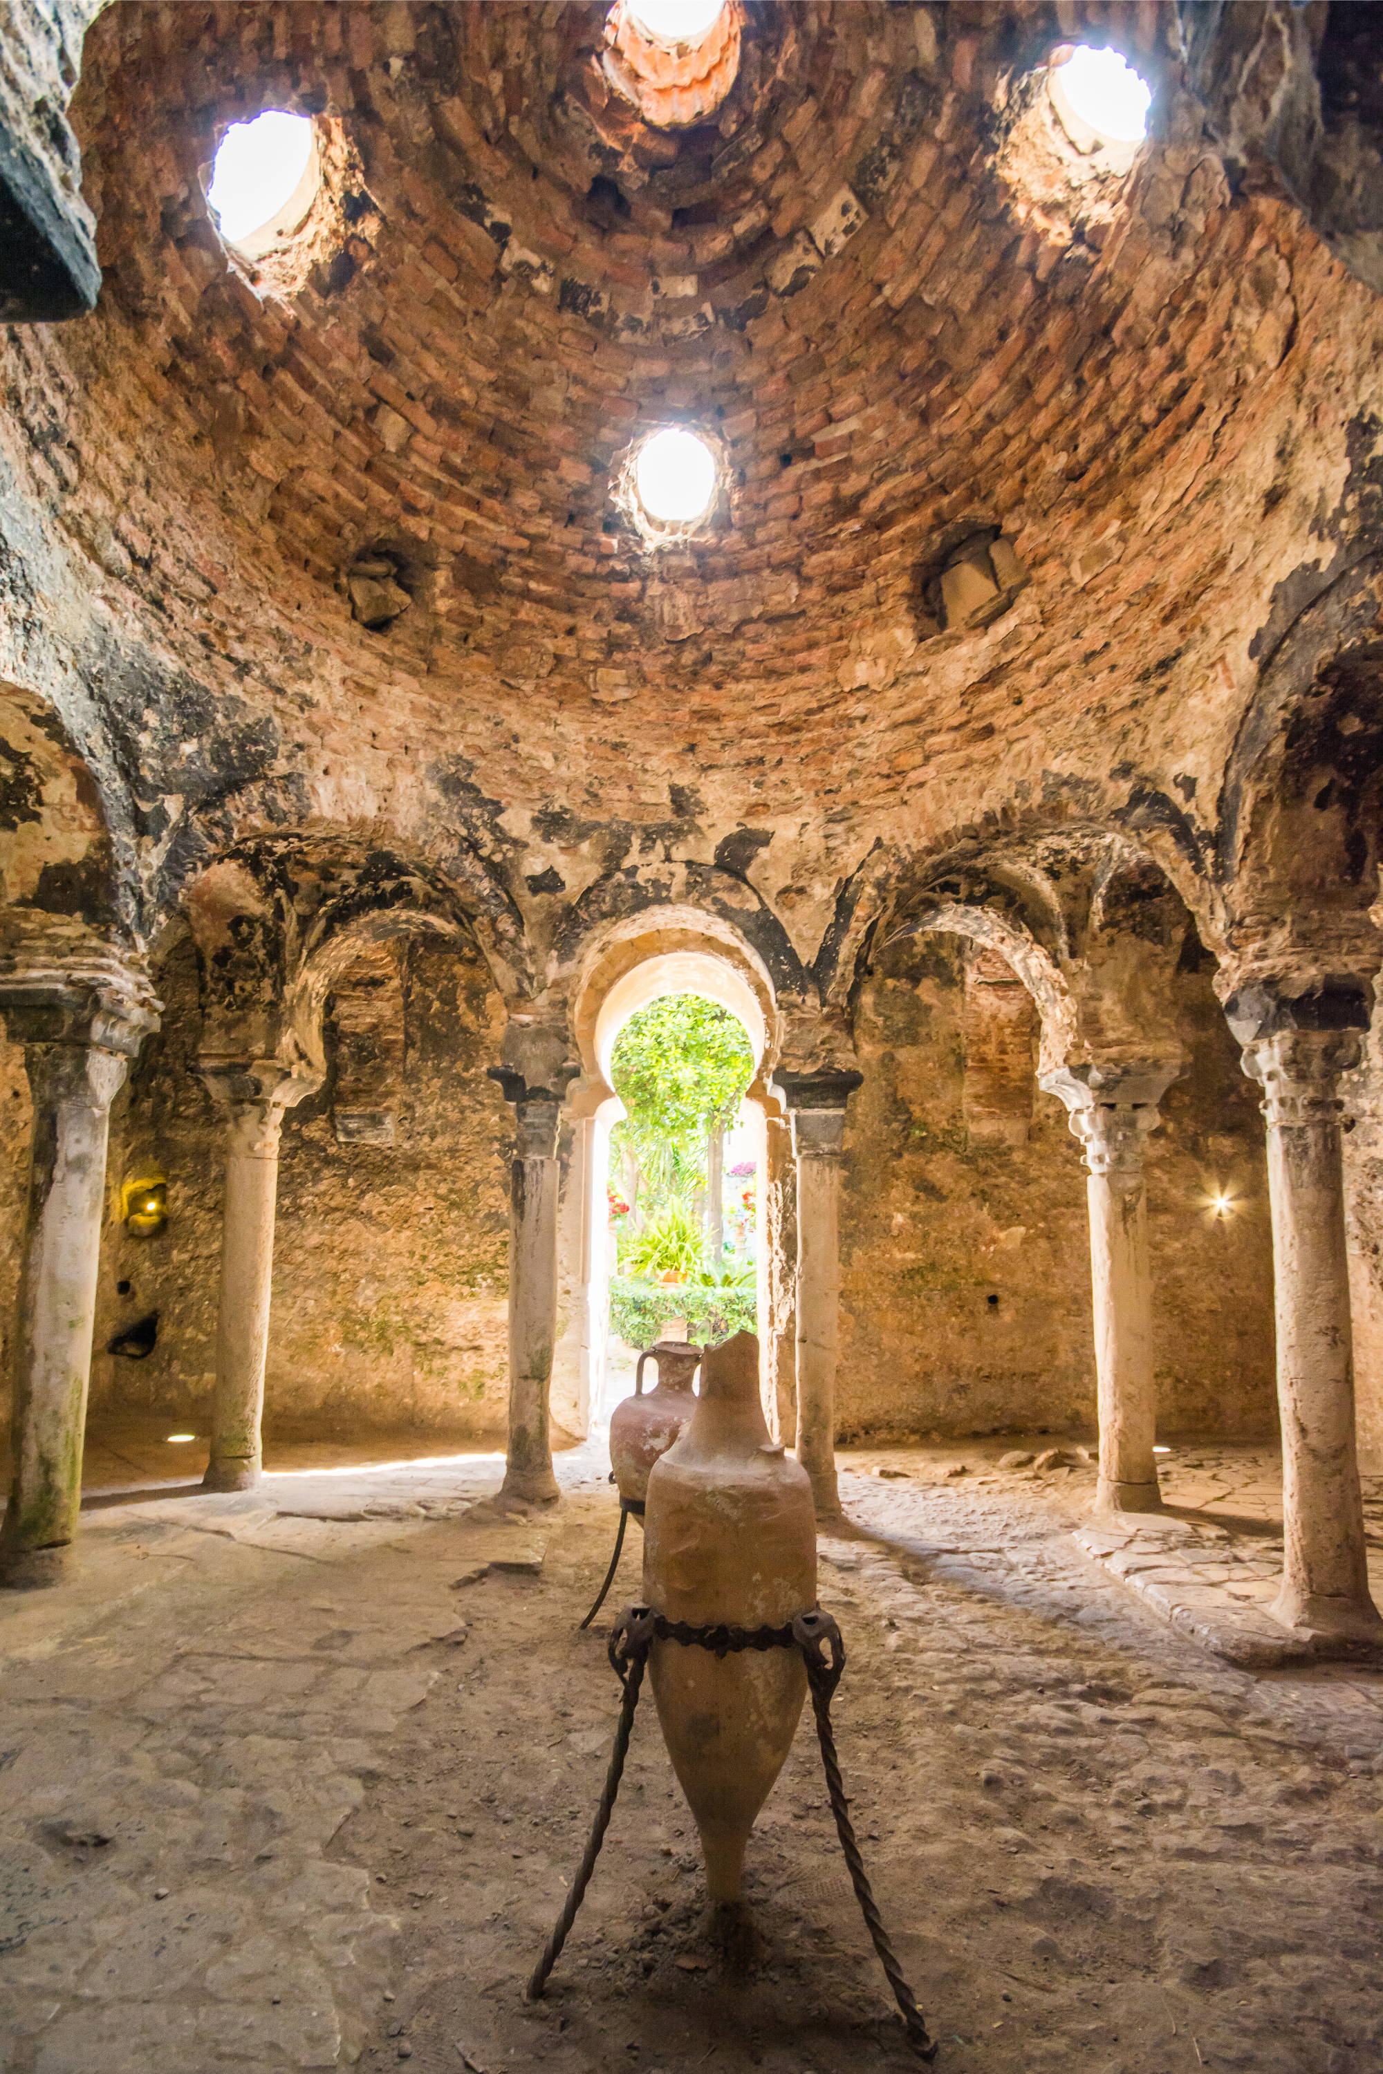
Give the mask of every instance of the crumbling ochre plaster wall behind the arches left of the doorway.
M 224 1128 L 191 1074 L 199 1035 L 191 944 L 164 964 L 164 1031 L 120 1097 L 91 1365 L 93 1412 L 205 1419 L 216 1371 Z M 290 1110 L 278 1170 L 265 1429 L 435 1429 L 498 1435 L 508 1390 L 508 1116 L 485 1068 L 496 998 L 479 952 L 404 958 L 404 1070 L 396 1143 L 338 1145 L 334 1076 Z M 118 1222 L 126 1178 L 168 1176 L 168 1224 Z M 131 1282 L 129 1296 L 116 1292 Z M 145 1361 L 104 1352 L 149 1311 Z

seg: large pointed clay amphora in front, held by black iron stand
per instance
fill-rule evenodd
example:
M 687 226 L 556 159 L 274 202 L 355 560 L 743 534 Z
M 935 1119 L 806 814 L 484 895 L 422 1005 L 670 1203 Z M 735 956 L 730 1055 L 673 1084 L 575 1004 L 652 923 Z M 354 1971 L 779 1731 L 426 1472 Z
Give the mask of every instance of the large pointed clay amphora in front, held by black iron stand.
M 751 1332 L 703 1350 L 697 1410 L 653 1464 L 647 1508 L 643 1595 L 668 1620 L 782 1628 L 817 1603 L 811 1479 L 769 1439 Z M 802 1713 L 802 1657 L 796 1649 L 715 1657 L 659 1641 L 649 1678 L 701 1831 L 711 1902 L 734 1904 L 749 1831 Z

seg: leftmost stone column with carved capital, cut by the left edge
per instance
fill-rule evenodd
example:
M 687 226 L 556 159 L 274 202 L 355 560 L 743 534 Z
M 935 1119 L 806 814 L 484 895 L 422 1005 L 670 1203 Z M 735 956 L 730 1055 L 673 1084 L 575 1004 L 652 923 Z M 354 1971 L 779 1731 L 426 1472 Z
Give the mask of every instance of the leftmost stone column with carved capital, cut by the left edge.
M 77 1533 L 110 1103 L 158 1029 L 156 1006 L 147 989 L 120 1000 L 60 977 L 0 981 L 0 1012 L 25 1047 L 33 1093 L 4 1585 L 58 1582 Z

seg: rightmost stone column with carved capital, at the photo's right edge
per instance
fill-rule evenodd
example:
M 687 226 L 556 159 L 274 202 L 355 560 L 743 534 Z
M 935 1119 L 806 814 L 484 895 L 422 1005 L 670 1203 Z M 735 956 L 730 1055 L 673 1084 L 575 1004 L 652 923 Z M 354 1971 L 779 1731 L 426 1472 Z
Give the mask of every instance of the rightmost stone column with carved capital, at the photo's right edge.
M 1236 1004 L 1227 1004 L 1236 1027 Z M 1242 1039 L 1242 1031 L 1236 1027 Z M 1273 1211 L 1277 1404 L 1286 1564 L 1273 1616 L 1325 1643 L 1377 1643 L 1354 1439 L 1354 1336 L 1344 1224 L 1339 1074 L 1352 1029 L 1277 1029 L 1244 1041 L 1263 1085 Z

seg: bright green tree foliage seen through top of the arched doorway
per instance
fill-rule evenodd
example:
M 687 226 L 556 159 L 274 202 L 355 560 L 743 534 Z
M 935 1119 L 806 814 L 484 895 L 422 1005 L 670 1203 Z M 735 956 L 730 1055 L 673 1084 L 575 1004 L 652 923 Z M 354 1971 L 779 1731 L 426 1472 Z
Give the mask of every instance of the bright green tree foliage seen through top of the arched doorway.
M 690 1213 L 705 1190 L 707 1137 L 734 1118 L 755 1072 L 742 1025 L 699 993 L 670 993 L 630 1016 L 610 1062 L 626 1120 L 610 1134 L 614 1180 L 634 1228 Z

